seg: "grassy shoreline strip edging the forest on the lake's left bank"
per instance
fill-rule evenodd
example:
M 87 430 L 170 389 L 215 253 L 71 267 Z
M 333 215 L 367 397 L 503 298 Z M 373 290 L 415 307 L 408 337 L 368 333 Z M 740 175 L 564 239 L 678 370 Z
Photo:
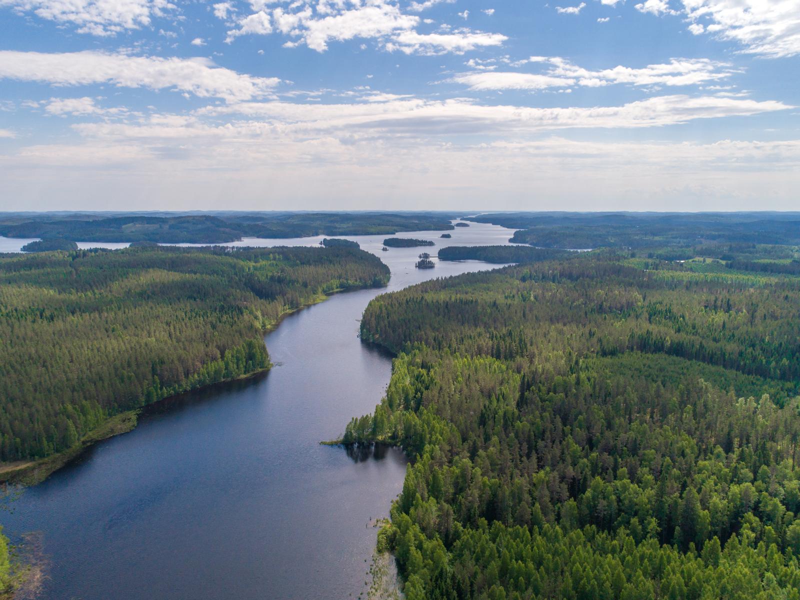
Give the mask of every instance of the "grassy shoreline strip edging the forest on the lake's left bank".
M 334 296 L 335 294 L 341 292 L 369 289 L 372 287 L 378 286 L 354 286 L 349 288 L 337 288 L 330 292 L 320 292 L 298 308 L 283 312 L 280 316 L 278 316 L 278 320 L 262 329 L 262 338 L 263 336 L 266 336 L 266 334 L 273 332 L 276 328 L 278 328 L 278 325 L 280 325 L 287 316 L 293 315 L 296 312 L 300 312 L 303 308 L 309 308 L 310 306 L 314 306 L 314 304 L 319 304 L 330 296 Z M 383 285 L 383 287 L 386 287 L 386 283 Z M 267 348 L 267 352 L 269 352 L 269 348 Z M 230 377 L 229 379 L 223 379 L 222 381 L 214 381 L 214 383 L 202 385 L 199 388 L 187 391 L 194 392 L 198 389 L 210 388 L 211 386 L 226 384 L 230 383 L 231 381 L 250 379 L 250 377 L 256 377 L 262 373 L 269 372 L 274 366 L 274 363 L 270 361 L 269 366 L 266 368 L 258 368 L 255 371 L 245 373 L 244 375 L 240 375 L 238 377 Z M 37 485 L 38 483 L 45 481 L 47 477 L 50 477 L 50 475 L 59 469 L 62 469 L 66 465 L 69 465 L 71 462 L 77 460 L 84 452 L 86 452 L 87 449 L 90 449 L 98 442 L 122 435 L 122 433 L 128 433 L 129 431 L 135 429 L 136 425 L 138 425 L 138 416 L 139 413 L 142 412 L 142 409 L 158 405 L 161 402 L 178 397 L 183 393 L 186 392 L 173 394 L 171 396 L 161 398 L 150 405 L 145 405 L 138 409 L 126 410 L 123 413 L 118 413 L 113 417 L 109 417 L 97 428 L 93 429 L 89 433 L 86 433 L 86 435 L 82 437 L 72 448 L 62 450 L 61 452 L 50 454 L 50 456 L 38 458 L 32 461 L 14 461 L 6 464 L 0 464 L 0 484 L 21 485 L 22 487 Z

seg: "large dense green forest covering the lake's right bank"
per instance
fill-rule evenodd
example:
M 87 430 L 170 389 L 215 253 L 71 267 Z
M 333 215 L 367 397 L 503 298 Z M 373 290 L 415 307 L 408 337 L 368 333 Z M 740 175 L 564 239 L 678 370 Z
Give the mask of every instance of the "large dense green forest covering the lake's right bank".
M 378 534 L 407 600 L 800 598 L 798 248 L 658 257 L 694 250 L 370 302 L 392 377 L 342 441 L 412 459 Z

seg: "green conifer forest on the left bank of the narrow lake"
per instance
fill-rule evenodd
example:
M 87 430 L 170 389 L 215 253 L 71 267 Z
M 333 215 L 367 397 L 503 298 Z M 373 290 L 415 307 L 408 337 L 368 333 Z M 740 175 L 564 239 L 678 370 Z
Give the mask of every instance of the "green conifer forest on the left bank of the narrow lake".
M 287 312 L 388 280 L 354 248 L 0 255 L 0 459 L 70 449 L 118 413 L 265 370 L 262 334 Z

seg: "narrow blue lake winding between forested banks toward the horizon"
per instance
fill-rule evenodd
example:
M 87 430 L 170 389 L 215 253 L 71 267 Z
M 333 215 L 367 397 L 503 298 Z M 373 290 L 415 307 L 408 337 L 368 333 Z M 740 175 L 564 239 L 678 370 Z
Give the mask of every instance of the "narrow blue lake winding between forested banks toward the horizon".
M 4 533 L 14 542 L 37 532 L 49 561 L 38 597 L 318 600 L 365 590 L 372 524 L 402 489 L 406 458 L 318 442 L 371 412 L 389 382 L 390 356 L 358 339 L 366 304 L 432 277 L 496 268 L 414 263 L 444 245 L 507 244 L 513 232 L 472 223 L 450 240 L 441 233 L 398 234 L 437 245 L 388 252 L 386 236 L 344 236 L 390 266 L 388 288 L 342 293 L 287 317 L 266 336 L 278 365 L 265 376 L 151 406 L 134 431 L 11 502 L 0 513 Z

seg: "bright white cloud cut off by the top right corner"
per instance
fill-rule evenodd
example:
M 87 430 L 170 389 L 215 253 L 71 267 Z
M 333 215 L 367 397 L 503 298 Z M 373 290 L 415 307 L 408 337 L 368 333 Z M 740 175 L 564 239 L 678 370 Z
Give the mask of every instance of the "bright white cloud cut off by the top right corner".
M 693 24 L 768 58 L 800 54 L 800 0 L 682 0 Z M 691 26 L 690 26 L 691 30 Z M 691 30 L 697 34 L 697 28 Z

